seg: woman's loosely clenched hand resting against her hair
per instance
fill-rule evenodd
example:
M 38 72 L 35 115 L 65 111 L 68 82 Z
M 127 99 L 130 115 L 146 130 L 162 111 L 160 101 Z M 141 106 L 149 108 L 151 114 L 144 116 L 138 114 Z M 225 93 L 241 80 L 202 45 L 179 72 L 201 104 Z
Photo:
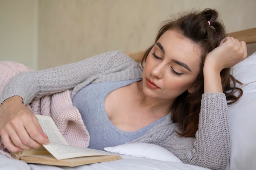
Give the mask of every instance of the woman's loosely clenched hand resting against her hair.
M 213 66 L 216 71 L 222 71 L 224 68 L 230 68 L 247 57 L 247 47 L 244 41 L 233 37 L 226 37 L 220 45 L 207 54 L 204 66 Z

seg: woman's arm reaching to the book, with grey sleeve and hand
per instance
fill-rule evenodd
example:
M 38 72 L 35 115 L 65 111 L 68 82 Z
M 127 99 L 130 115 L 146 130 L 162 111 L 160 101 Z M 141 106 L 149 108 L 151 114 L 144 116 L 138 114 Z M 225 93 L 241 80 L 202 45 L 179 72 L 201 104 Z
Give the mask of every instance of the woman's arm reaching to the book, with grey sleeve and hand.
M 112 72 L 120 72 L 122 78 L 128 79 L 127 70 L 132 75 L 136 69 L 139 67 L 130 57 L 114 51 L 73 64 L 18 74 L 8 82 L 0 99 L 0 135 L 4 146 L 16 152 L 49 142 L 36 117 L 25 106 L 33 98 L 72 89 L 92 77 L 109 78 Z

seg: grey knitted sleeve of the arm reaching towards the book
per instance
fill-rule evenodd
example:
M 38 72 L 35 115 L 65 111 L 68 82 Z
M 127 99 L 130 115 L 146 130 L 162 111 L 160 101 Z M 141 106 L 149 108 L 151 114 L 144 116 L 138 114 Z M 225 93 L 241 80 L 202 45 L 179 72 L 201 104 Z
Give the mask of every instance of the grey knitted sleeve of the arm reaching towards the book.
M 87 79 L 111 81 L 141 77 L 141 68 L 130 57 L 120 51 L 102 53 L 80 62 L 49 68 L 42 71 L 22 72 L 13 77 L 5 86 L 0 104 L 12 96 L 22 97 L 29 104 L 33 98 L 72 90 Z M 130 74 L 127 74 L 127 73 Z M 112 74 L 116 73 L 116 74 Z M 99 80 L 98 80 L 99 81 Z

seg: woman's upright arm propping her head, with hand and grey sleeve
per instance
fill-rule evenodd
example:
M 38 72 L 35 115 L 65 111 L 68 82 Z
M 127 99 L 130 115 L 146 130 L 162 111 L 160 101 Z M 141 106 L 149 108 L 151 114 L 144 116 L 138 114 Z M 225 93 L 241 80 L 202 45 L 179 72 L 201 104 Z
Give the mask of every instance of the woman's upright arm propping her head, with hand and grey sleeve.
M 247 56 L 245 42 L 227 37 L 207 54 L 204 63 L 204 95 L 202 95 L 199 127 L 187 163 L 210 169 L 225 169 L 230 157 L 229 119 L 226 97 L 222 91 L 220 71 Z

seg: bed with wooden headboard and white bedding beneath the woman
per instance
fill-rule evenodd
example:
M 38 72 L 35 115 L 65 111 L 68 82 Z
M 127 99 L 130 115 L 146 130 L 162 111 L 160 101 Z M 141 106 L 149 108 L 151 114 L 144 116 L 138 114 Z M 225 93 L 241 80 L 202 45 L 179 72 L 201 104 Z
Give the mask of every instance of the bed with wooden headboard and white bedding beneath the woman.
M 244 40 L 256 51 L 256 28 L 229 33 L 238 40 Z M 143 52 L 128 53 L 139 62 Z M 231 157 L 226 170 L 256 169 L 256 52 L 249 53 L 245 61 L 233 68 L 233 75 L 241 82 L 244 94 L 240 100 L 229 106 L 231 133 Z M 78 167 L 57 167 L 30 164 L 9 159 L 0 155 L 1 170 L 207 170 L 206 168 L 185 164 L 171 152 L 153 144 L 124 144 L 106 148 L 106 151 L 119 154 L 123 159 L 94 163 Z

